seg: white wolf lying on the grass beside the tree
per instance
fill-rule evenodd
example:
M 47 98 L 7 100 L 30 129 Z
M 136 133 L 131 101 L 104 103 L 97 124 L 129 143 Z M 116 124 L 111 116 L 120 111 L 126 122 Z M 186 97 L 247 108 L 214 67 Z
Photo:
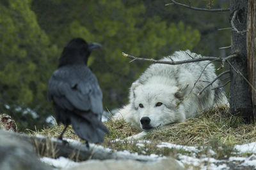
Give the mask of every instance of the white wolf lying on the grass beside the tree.
M 191 57 L 202 56 L 187 50 L 175 52 L 161 60 L 187 60 Z M 184 122 L 202 110 L 228 105 L 223 89 L 214 89 L 221 86 L 219 80 L 198 96 L 198 92 L 216 78 L 214 64 L 209 64 L 204 70 L 208 63 L 152 64 L 132 83 L 129 104 L 118 110 L 114 118 L 124 118 L 125 122 L 142 129 L 143 132 L 131 137 L 139 139 L 156 127 Z

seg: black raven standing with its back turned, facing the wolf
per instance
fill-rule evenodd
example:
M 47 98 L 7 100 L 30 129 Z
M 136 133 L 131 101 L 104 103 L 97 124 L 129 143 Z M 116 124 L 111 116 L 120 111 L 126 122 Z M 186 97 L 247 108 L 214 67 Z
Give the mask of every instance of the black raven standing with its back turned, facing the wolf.
M 101 122 L 102 92 L 96 76 L 87 67 L 92 50 L 99 43 L 86 43 L 82 38 L 72 39 L 65 46 L 58 69 L 48 83 L 48 99 L 52 101 L 58 124 L 72 124 L 77 136 L 92 143 L 102 143 L 108 129 Z

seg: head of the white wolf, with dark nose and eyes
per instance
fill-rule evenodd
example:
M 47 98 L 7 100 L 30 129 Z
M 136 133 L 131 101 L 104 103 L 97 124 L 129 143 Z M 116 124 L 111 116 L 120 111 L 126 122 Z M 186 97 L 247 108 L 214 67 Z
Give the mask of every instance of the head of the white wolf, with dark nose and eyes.
M 168 83 L 134 82 L 131 87 L 134 110 L 138 114 L 141 129 L 149 131 L 159 126 L 184 122 L 185 114 L 182 106 L 188 86 L 170 86 Z

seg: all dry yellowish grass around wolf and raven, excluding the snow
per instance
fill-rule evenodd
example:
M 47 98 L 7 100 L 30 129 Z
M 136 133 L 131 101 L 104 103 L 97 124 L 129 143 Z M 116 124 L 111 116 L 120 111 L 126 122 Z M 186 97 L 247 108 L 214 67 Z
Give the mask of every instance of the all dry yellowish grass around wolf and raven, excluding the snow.
M 173 124 L 167 128 L 156 129 L 149 132 L 145 139 L 151 143 L 142 143 L 144 146 L 137 145 L 136 141 L 116 141 L 114 139 L 125 139 L 140 131 L 131 127 L 124 120 L 109 120 L 106 122 L 109 129 L 109 135 L 106 135 L 103 146 L 114 150 L 129 150 L 130 152 L 138 152 L 143 155 L 152 153 L 177 157 L 177 153 L 190 155 L 185 150 L 177 150 L 175 148 L 159 148 L 156 147 L 162 141 L 187 145 L 187 146 L 210 146 L 217 154 L 216 159 L 227 159 L 234 153 L 234 145 L 250 143 L 256 141 L 256 127 L 254 124 L 244 124 L 242 118 L 237 118 L 228 113 L 228 108 L 220 107 L 212 110 L 204 111 L 199 117 L 189 118 L 186 122 Z M 36 134 L 43 134 L 57 138 L 63 125 L 42 129 Z M 81 141 L 72 130 L 68 127 L 64 138 L 77 139 Z M 207 155 L 209 147 L 202 150 L 200 155 Z

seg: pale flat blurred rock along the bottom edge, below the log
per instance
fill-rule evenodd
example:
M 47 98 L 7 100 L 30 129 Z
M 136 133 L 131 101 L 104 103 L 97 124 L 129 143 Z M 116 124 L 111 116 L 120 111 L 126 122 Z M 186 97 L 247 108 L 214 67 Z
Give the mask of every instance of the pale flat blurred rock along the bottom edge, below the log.
M 139 162 L 137 160 L 87 160 L 78 166 L 62 170 L 149 170 L 149 169 L 185 169 L 181 162 L 175 159 L 159 159 L 153 162 Z

